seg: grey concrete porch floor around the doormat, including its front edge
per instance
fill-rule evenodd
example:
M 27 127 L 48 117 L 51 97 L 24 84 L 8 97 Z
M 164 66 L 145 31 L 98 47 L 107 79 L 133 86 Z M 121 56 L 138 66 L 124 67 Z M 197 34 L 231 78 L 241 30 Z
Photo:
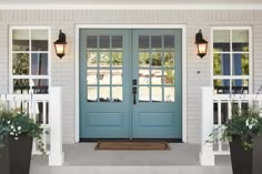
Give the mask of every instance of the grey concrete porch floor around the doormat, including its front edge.
M 33 156 L 30 174 L 232 174 L 229 156 L 216 156 L 215 166 L 199 164 L 200 146 L 169 143 L 171 151 L 95 151 L 95 143 L 64 145 L 63 166 L 48 166 Z

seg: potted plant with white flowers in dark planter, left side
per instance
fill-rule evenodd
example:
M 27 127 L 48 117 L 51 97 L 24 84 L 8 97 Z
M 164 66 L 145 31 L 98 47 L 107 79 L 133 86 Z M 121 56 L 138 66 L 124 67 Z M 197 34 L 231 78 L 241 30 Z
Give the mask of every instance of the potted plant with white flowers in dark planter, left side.
M 0 108 L 0 168 L 1 174 L 29 174 L 32 140 L 44 154 L 43 129 L 27 113 Z

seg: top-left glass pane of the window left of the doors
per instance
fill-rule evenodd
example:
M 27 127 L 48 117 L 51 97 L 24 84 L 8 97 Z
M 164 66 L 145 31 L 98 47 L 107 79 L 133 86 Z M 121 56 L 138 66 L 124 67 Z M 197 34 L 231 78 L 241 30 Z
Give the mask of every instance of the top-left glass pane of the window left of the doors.
M 29 51 L 29 30 L 12 30 L 12 50 Z

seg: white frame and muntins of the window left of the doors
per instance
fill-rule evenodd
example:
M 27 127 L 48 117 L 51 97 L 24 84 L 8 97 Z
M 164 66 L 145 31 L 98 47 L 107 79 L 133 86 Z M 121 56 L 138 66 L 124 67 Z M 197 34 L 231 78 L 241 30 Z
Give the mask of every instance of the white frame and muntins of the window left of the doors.
M 29 48 L 31 48 L 31 31 L 32 30 L 48 30 L 48 51 L 41 51 L 41 53 L 48 53 L 48 75 L 32 75 L 31 74 L 31 53 L 37 51 L 27 51 L 29 53 L 29 75 L 13 75 L 12 74 L 12 31 L 13 30 L 29 30 Z M 37 25 L 11 25 L 9 27 L 9 93 L 13 93 L 13 79 L 47 79 L 49 89 L 51 86 L 51 28 L 50 27 L 37 27 Z

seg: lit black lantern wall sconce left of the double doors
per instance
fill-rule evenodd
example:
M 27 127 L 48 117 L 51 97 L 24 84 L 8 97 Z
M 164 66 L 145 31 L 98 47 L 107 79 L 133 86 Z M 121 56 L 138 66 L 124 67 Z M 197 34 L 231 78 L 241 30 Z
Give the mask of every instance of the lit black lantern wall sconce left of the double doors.
M 64 55 L 64 50 L 66 50 L 66 44 L 67 44 L 66 34 L 62 32 L 62 30 L 59 30 L 59 38 L 56 42 L 53 42 L 53 44 L 54 44 L 57 55 L 60 59 L 62 59 Z

